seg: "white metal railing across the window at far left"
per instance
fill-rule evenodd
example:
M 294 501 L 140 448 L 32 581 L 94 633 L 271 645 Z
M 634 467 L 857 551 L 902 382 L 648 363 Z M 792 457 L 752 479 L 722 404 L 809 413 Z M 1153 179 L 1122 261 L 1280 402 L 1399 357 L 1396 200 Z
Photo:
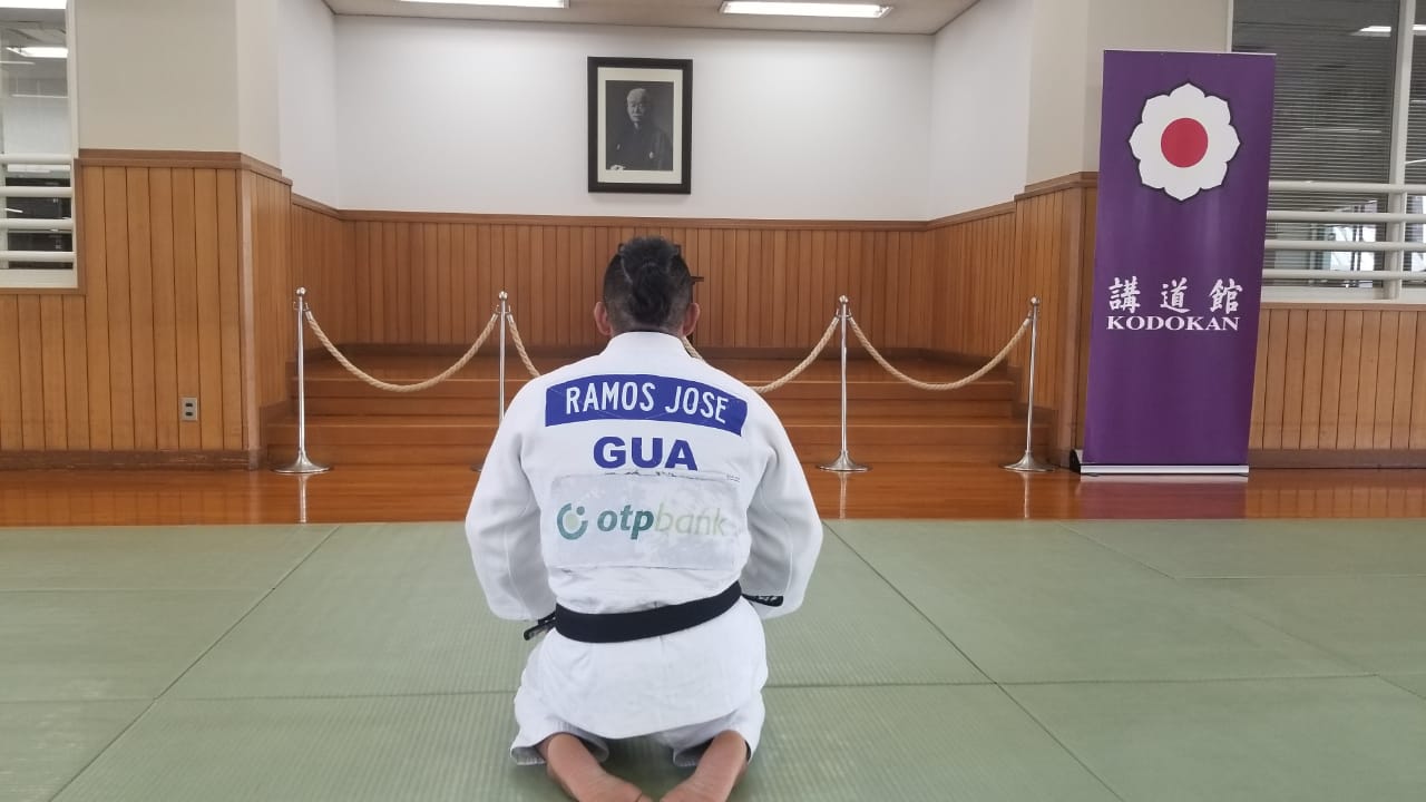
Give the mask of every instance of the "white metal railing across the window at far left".
M 67 153 L 3 153 L 0 154 L 0 171 L 6 176 L 13 173 L 13 166 L 63 166 L 70 171 L 70 186 L 66 187 L 10 187 L 0 181 L 0 201 L 11 198 L 73 198 L 73 157 Z M 36 171 L 37 174 L 40 171 Z M 10 204 L 6 203 L 10 210 Z M 7 211 L 6 214 L 10 214 Z M 19 233 L 56 233 L 70 234 L 70 248 L 56 250 L 10 250 L 9 234 Z M 44 268 L 16 268 L 13 263 L 30 264 L 74 264 L 74 217 L 0 217 L 0 287 L 74 287 L 76 275 L 73 270 L 44 270 Z

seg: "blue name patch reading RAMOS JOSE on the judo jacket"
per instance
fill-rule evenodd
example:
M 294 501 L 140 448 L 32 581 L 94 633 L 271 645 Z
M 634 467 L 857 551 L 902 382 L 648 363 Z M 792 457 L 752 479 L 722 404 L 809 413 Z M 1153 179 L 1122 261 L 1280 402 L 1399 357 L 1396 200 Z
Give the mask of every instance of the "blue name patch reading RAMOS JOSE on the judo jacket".
M 670 421 L 743 434 L 747 401 L 716 387 L 647 374 L 586 375 L 545 391 L 545 425 Z

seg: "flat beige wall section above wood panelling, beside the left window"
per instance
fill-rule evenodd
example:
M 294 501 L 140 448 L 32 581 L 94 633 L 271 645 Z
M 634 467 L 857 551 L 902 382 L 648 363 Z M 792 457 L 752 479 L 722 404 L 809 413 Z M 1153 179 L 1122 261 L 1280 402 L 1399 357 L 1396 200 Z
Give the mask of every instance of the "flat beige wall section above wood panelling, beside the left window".
M 235 151 L 234 0 L 77 0 L 80 147 Z

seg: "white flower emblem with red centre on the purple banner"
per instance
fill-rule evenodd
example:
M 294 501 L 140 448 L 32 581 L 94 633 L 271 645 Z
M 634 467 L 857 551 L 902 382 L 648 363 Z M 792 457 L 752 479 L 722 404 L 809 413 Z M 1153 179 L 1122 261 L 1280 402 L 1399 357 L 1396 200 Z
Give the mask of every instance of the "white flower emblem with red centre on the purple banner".
M 1191 83 L 1148 98 L 1129 136 L 1144 186 L 1179 201 L 1221 187 L 1239 144 L 1228 101 Z

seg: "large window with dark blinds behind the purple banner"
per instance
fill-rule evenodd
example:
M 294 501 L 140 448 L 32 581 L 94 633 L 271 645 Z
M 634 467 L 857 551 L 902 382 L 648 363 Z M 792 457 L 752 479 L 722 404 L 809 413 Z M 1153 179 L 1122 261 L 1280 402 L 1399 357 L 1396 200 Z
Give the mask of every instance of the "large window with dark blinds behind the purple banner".
M 1399 70 L 1402 11 L 1426 23 L 1426 0 L 1233 6 L 1233 50 L 1278 56 L 1269 287 L 1386 300 L 1426 291 L 1410 277 L 1426 277 L 1426 24 L 1413 27 Z M 1405 108 L 1397 73 L 1410 81 Z

